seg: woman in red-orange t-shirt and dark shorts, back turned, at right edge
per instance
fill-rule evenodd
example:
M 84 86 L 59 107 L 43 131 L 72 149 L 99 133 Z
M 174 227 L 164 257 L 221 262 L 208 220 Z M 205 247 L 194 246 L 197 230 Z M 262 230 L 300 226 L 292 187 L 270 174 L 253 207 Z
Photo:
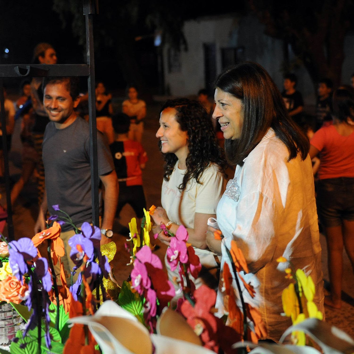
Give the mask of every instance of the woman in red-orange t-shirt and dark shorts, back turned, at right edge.
M 325 304 L 341 308 L 343 247 L 354 271 L 354 89 L 333 96 L 333 125 L 312 137 L 310 157 L 320 156 L 317 210 L 328 250 L 331 294 Z

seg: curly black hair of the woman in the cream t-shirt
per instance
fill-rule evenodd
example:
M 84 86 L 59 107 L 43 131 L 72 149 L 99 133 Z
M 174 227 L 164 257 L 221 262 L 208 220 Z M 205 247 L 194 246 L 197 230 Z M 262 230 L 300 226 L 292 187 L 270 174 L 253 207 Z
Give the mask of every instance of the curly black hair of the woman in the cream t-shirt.
M 227 161 L 217 143 L 210 117 L 204 107 L 197 101 L 176 98 L 167 100 L 161 107 L 160 114 L 166 108 L 176 109 L 176 121 L 180 129 L 187 132 L 188 135 L 189 153 L 185 160 L 187 172 L 178 189 L 183 191 L 188 181 L 193 178 L 195 178 L 197 183 L 200 183 L 200 177 L 210 163 L 218 165 L 220 171 L 226 177 Z M 161 150 L 161 141 L 159 142 L 159 147 Z M 165 160 L 164 179 L 169 181 L 177 162 L 177 156 L 173 153 L 163 155 Z

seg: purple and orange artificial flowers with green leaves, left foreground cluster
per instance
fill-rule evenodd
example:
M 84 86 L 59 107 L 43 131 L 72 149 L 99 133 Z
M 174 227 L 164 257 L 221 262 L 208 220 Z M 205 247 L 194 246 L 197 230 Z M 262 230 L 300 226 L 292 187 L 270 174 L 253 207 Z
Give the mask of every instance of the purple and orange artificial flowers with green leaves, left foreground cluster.
M 8 244 L 5 241 L 6 245 L 1 245 L 8 250 L 8 265 L 2 263 L 2 274 L 10 267 L 12 282 L 15 284 L 16 280 L 20 286 L 9 293 L 0 285 L 0 299 L 11 303 L 26 322 L 23 331 L 16 333 L 10 352 L 99 353 L 87 328 L 75 324 L 69 329 L 68 320 L 79 315 L 93 315 L 99 306 L 100 296 L 103 301 L 107 299 L 103 279 L 108 279 L 111 269 L 108 258 L 101 252 L 101 231 L 89 223 L 83 223 L 79 230 L 58 205 L 53 208 L 64 213 L 65 221 L 56 222 L 58 217 L 54 215 L 47 221 L 51 226 L 36 234 L 32 240 L 21 238 Z M 77 280 L 71 285 L 67 283 L 61 261 L 65 254 L 60 238 L 61 224 L 64 222 L 72 225 L 76 232 L 68 241 L 70 258 L 75 263 L 71 280 L 78 273 Z M 47 258 L 41 257 L 38 250 L 44 241 L 47 242 Z M 57 285 L 54 268 L 57 263 L 61 285 Z M 99 290 L 96 297 L 92 295 L 94 289 Z

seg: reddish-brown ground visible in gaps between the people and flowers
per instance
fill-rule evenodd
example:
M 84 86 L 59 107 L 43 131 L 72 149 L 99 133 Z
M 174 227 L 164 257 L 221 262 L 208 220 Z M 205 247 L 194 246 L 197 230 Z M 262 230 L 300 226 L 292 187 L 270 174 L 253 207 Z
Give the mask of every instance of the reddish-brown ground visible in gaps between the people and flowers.
M 158 110 L 159 105 L 155 104 L 148 107 L 148 117 L 145 122 L 145 132 L 143 136 L 143 145 L 148 153 L 149 161 L 143 172 L 144 190 L 147 198 L 147 206 L 152 204 L 160 205 L 160 191 L 162 182 L 162 159 L 158 150 L 158 142 L 155 133 L 158 129 Z M 18 138 L 19 122 L 16 123 L 16 131 L 13 137 L 13 149 L 11 152 L 11 178 L 15 181 L 19 177 L 21 143 Z M 232 176 L 230 176 L 232 177 Z M 3 193 L 2 193 L 3 194 Z M 4 197 L 2 197 L 4 198 Z M 35 205 L 35 181 L 29 183 L 23 193 L 20 195 L 15 205 L 13 220 L 15 224 L 16 238 L 23 236 L 32 237 L 34 220 L 37 216 L 37 207 Z M 128 225 L 130 218 L 134 216 L 133 210 L 125 206 L 121 213 L 121 218 L 116 220 L 115 230 L 119 230 L 120 225 Z M 117 244 L 117 253 L 113 261 L 116 279 L 119 282 L 127 279 L 131 269 L 126 266 L 129 263 L 129 255 L 124 250 L 125 237 L 119 234 L 114 235 Z M 326 241 L 321 235 L 322 244 L 322 269 L 324 279 L 328 280 Z M 163 258 L 166 247 L 160 244 L 160 249 L 156 254 Z M 326 320 L 331 324 L 338 326 L 354 337 L 354 275 L 346 255 L 344 257 L 344 276 L 343 276 L 343 302 L 342 309 L 334 310 L 326 307 Z

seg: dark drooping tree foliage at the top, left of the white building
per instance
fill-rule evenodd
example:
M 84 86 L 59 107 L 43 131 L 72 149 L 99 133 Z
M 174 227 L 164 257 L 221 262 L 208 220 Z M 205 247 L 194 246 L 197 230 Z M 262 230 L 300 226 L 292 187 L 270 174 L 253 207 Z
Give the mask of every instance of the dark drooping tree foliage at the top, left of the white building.
M 82 2 L 53 0 L 63 25 L 72 21 L 72 31 L 79 44 L 85 44 L 85 17 Z M 163 41 L 175 47 L 186 47 L 182 34 L 183 11 L 177 2 L 159 0 L 99 1 L 99 13 L 94 18 L 95 56 L 106 55 L 107 49 L 116 58 L 126 82 L 140 87 L 144 80 L 136 60 L 136 38 L 152 38 L 162 33 Z

